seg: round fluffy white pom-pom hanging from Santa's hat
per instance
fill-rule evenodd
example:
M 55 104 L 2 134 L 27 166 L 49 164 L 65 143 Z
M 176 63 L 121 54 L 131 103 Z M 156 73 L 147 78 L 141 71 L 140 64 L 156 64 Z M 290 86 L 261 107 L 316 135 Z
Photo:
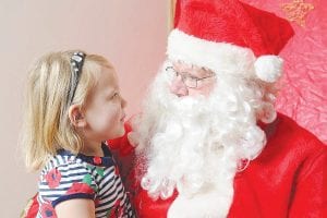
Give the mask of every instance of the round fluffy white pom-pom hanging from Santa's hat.
M 261 56 L 254 63 L 255 73 L 262 81 L 274 83 L 281 75 L 282 59 L 278 56 Z

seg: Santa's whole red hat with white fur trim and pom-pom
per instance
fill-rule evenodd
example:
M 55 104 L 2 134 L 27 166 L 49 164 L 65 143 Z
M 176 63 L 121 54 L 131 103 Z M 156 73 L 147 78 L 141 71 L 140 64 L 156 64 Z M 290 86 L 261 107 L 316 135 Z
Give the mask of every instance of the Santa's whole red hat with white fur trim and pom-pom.
M 167 55 L 216 73 L 275 82 L 278 53 L 293 34 L 288 21 L 237 0 L 180 0 Z

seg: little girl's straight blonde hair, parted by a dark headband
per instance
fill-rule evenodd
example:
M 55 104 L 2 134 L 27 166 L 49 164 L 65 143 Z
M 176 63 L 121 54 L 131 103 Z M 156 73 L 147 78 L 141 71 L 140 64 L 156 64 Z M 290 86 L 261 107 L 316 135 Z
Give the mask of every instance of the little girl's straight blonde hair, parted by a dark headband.
M 70 104 L 70 59 L 73 52 L 47 53 L 29 70 L 22 133 L 25 165 L 29 170 L 40 169 L 60 148 L 76 154 L 83 147 L 80 135 L 70 122 L 69 107 L 76 104 L 83 110 L 88 94 L 97 84 L 101 68 L 112 65 L 101 56 L 86 55 L 81 78 Z

